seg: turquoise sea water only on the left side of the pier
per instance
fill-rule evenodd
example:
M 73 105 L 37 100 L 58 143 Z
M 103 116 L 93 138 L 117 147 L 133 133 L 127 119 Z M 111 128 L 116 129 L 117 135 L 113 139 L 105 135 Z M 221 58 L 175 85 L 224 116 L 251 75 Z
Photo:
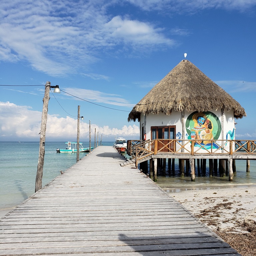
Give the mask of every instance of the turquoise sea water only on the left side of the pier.
M 83 142 L 89 147 L 89 142 Z M 113 142 L 102 142 L 112 146 Z M 100 144 L 100 142 L 99 142 Z M 96 142 L 97 145 L 97 142 Z M 65 142 L 46 142 L 42 185 L 45 186 L 76 163 L 76 153 L 57 153 Z M 94 141 L 91 142 L 94 147 Z M 0 141 L 0 209 L 11 209 L 35 192 L 39 142 Z M 79 153 L 82 158 L 87 153 Z

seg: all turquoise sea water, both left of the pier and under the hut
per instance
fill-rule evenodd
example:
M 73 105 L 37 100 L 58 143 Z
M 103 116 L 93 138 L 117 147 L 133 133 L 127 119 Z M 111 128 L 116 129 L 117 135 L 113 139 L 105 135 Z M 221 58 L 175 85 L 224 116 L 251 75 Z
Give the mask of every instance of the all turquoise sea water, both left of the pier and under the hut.
M 112 146 L 113 143 L 114 141 L 102 142 L 102 145 Z M 89 142 L 83 142 L 83 146 L 89 147 Z M 94 147 L 94 141 L 91 146 Z M 64 172 L 76 163 L 76 153 L 57 153 L 57 148 L 66 148 L 65 142 L 45 143 L 43 186 L 60 175 L 60 171 Z M 0 141 L 0 209 L 11 209 L 34 193 L 38 151 L 39 142 Z M 86 154 L 79 153 L 79 157 Z M 250 172 L 246 173 L 246 161 L 236 161 L 237 175 L 232 182 L 228 181 L 228 177 L 209 178 L 208 167 L 205 176 L 196 177 L 196 181 L 191 182 L 190 176 L 179 177 L 177 161 L 175 173 L 161 173 L 159 170 L 157 184 L 170 193 L 184 189 L 211 189 L 216 186 L 255 186 L 256 161 L 251 160 L 250 163 Z

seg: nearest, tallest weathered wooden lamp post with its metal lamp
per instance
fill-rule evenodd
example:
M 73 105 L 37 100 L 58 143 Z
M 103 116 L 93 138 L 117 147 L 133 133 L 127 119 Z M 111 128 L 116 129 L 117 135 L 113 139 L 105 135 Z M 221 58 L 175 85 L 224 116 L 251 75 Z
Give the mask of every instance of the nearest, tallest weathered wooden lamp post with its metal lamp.
M 42 178 L 43 178 L 43 167 L 44 167 L 44 146 L 45 146 L 45 134 L 46 134 L 46 123 L 47 123 L 47 113 L 48 113 L 48 103 L 50 100 L 50 89 L 54 88 L 55 93 L 60 93 L 60 88 L 58 85 L 51 86 L 50 82 L 46 82 L 44 98 L 43 98 L 43 111 L 42 111 L 42 121 L 41 121 L 41 131 L 40 131 L 40 144 L 39 144 L 39 155 L 38 155 L 38 165 L 36 173 L 36 186 L 35 192 L 42 188 Z

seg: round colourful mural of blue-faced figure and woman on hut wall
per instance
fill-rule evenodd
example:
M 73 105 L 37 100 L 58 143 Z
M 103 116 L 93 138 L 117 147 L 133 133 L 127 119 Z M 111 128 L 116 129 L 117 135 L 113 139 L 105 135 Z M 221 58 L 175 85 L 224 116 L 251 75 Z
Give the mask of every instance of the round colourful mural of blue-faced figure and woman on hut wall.
M 197 140 L 195 146 L 204 145 L 206 149 L 211 147 L 211 141 L 219 139 L 221 124 L 219 118 L 212 112 L 193 112 L 186 120 L 188 139 Z M 209 144 L 209 145 L 208 145 Z M 213 143 L 214 148 L 219 148 Z

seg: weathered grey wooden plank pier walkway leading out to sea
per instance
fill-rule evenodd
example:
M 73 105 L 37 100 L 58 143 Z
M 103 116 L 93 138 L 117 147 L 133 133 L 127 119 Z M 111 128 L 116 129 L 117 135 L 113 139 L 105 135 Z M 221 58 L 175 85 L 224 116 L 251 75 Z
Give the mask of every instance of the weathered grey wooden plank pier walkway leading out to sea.
M 113 147 L 99 146 L 0 221 L 0 255 L 233 255 Z

